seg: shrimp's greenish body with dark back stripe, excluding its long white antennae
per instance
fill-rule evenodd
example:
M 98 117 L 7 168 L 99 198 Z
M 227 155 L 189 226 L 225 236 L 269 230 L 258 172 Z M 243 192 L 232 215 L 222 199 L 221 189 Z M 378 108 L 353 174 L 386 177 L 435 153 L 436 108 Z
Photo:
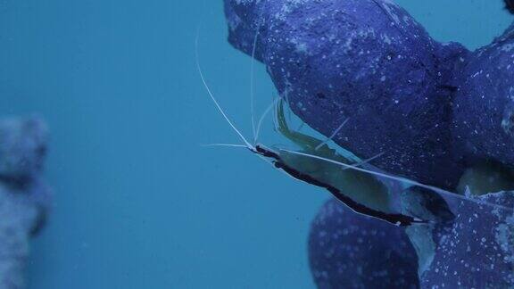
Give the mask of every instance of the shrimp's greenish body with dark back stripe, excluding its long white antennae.
M 394 225 L 408 226 L 422 222 L 394 211 L 392 194 L 384 182 L 366 172 L 341 167 L 342 163 L 353 166 L 352 163 L 360 163 L 360 159 L 351 155 L 345 157 L 325 142 L 291 130 L 284 116 L 283 101 L 278 103 L 277 122 L 282 136 L 298 145 L 301 151 L 294 153 L 255 145 L 254 150 L 251 149 L 253 153 L 271 159 L 276 168 L 282 169 L 293 178 L 327 189 L 352 211 L 383 219 Z M 319 159 L 307 155 L 317 156 Z

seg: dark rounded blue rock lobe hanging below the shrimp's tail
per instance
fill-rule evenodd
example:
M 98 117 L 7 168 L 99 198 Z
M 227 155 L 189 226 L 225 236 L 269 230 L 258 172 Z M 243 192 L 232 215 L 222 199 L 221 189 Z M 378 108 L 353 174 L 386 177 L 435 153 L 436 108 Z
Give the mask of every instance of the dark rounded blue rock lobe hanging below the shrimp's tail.
M 419 288 L 418 257 L 404 229 L 336 200 L 312 222 L 309 260 L 319 288 Z

